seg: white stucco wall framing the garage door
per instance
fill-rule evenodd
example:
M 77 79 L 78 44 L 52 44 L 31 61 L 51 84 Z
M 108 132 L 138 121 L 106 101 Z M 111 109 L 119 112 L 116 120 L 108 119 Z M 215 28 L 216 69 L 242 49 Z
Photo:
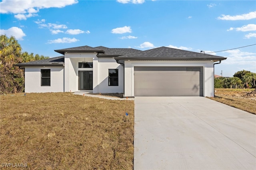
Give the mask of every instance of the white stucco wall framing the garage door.
M 204 97 L 214 96 L 213 61 L 125 61 L 124 96 L 134 96 L 134 66 L 203 67 Z

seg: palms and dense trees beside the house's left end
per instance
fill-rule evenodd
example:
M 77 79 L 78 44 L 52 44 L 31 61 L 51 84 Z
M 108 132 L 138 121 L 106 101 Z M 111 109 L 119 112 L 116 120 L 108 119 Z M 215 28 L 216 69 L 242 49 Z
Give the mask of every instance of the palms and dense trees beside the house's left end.
M 14 36 L 0 35 L 0 94 L 24 91 L 24 69 L 14 64 L 49 58 L 21 50 Z

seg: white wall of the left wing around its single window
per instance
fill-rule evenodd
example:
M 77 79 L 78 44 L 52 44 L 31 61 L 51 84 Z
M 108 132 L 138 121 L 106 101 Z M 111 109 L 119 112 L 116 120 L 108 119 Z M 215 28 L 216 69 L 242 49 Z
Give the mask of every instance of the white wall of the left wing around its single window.
M 41 69 L 51 69 L 51 85 L 41 86 Z M 26 93 L 46 93 L 64 91 L 64 67 L 25 67 L 25 92 Z

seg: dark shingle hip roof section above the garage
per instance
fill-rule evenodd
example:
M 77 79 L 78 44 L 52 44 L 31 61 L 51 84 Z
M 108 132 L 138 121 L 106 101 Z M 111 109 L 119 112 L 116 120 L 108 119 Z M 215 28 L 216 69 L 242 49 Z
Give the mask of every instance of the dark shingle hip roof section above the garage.
M 224 60 L 225 57 L 186 51 L 169 47 L 158 47 L 137 53 L 115 57 L 120 60 Z

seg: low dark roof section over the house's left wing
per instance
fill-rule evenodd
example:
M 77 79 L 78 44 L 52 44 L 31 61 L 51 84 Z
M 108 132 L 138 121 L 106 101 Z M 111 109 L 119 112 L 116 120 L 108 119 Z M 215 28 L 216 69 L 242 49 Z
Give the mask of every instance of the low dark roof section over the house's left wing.
M 30 61 L 27 63 L 18 63 L 15 64 L 15 66 L 64 66 L 64 55 L 60 57 L 52 57 L 48 59 Z

